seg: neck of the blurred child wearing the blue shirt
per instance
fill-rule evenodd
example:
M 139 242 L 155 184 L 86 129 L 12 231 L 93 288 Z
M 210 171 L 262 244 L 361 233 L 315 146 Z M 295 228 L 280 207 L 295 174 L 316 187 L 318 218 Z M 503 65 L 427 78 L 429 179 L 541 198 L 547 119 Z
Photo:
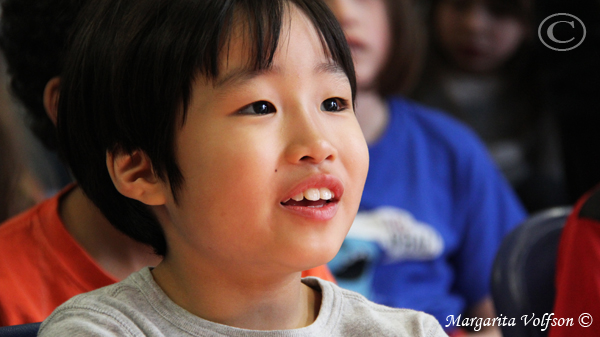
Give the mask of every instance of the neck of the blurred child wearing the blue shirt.
M 367 144 L 377 141 L 389 121 L 385 100 L 375 91 L 358 91 L 356 94 L 356 118 Z

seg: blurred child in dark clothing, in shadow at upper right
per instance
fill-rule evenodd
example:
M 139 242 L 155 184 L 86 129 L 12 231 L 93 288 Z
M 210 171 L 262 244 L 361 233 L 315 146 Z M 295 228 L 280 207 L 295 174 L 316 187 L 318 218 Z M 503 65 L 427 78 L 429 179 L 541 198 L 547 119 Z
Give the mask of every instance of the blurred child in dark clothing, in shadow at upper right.
M 414 97 L 471 126 L 530 211 L 564 204 L 560 144 L 532 59 L 533 0 L 433 0 Z

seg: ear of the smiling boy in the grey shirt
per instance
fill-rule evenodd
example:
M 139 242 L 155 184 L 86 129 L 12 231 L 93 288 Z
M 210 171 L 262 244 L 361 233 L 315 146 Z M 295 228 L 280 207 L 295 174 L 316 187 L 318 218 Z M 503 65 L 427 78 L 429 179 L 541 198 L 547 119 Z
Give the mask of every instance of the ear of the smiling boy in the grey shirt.
M 113 184 L 122 195 L 149 206 L 165 204 L 165 191 L 169 189 L 156 176 L 150 158 L 144 152 L 106 152 L 106 167 Z

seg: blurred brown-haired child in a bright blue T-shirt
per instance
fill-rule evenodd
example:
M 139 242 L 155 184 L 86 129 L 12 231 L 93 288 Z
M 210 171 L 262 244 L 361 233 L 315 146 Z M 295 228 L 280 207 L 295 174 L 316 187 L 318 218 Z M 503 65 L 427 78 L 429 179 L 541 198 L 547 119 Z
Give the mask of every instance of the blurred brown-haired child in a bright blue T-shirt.
M 524 209 L 471 130 L 402 96 L 422 57 L 413 5 L 326 2 L 352 50 L 371 160 L 359 214 L 329 266 L 340 285 L 462 333 L 449 315 L 495 317 L 491 265 Z

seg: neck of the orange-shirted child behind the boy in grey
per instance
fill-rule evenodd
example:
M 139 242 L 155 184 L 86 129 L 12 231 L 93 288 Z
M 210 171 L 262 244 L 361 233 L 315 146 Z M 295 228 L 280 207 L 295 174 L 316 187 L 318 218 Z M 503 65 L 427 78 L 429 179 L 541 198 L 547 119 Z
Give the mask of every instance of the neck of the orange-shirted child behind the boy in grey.
M 60 217 L 75 241 L 117 280 L 160 262 L 152 248 L 114 228 L 79 186 L 61 199 Z

